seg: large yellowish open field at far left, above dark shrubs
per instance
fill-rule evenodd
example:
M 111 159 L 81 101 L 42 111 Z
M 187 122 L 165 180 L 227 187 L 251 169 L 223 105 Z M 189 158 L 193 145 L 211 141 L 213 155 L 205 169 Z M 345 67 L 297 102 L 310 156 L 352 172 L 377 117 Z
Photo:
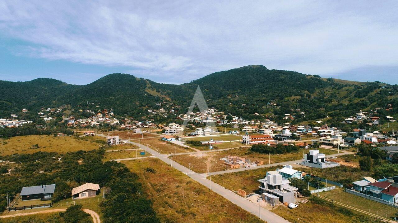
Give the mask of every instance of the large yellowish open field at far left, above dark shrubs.
M 37 146 L 35 146 L 36 144 Z M 94 150 L 104 144 L 106 144 L 105 139 L 99 136 L 15 136 L 6 140 L 0 140 L 0 155 L 6 156 L 15 153 L 31 154 L 39 151 L 63 153 L 78 150 Z

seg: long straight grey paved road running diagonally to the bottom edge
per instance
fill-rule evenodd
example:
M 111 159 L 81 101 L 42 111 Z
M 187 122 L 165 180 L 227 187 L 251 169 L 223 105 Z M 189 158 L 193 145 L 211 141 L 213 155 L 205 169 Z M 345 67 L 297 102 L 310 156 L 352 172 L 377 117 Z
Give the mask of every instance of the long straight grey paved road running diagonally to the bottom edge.
M 151 148 L 144 146 L 142 144 L 138 144 L 136 142 L 129 142 L 131 144 L 134 144 L 136 146 L 139 146 L 140 148 L 147 150 L 160 160 L 164 161 L 167 164 L 172 163 L 172 166 L 183 172 L 183 173 L 189 173 L 189 169 L 187 167 L 184 167 L 183 165 L 176 163 L 175 161 L 170 161 L 169 158 L 167 158 L 167 155 L 165 154 L 159 154 L 155 150 L 152 150 Z M 195 173 L 191 171 L 191 178 L 197 182 L 199 182 L 201 185 L 206 186 L 207 188 L 210 188 L 217 194 L 220 194 L 224 198 L 228 199 L 230 202 L 236 204 L 237 206 L 241 207 L 242 209 L 249 211 L 250 213 L 256 215 L 256 216 L 261 216 L 261 219 L 264 221 L 267 221 L 269 223 L 289 223 L 289 221 L 283 219 L 282 217 L 272 213 L 269 210 L 266 210 L 265 208 L 261 208 L 260 206 L 254 204 L 253 202 L 239 196 L 238 194 L 235 194 L 234 192 L 218 185 L 217 183 L 214 183 L 203 175 L 199 173 Z

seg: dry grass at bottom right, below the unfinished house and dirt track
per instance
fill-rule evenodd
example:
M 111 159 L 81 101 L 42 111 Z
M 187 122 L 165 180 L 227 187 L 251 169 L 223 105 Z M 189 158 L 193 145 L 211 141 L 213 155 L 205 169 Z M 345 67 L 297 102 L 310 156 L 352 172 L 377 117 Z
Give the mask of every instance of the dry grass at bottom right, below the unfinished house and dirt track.
M 286 206 L 278 206 L 272 212 L 285 218 L 291 223 L 369 223 L 381 222 L 369 215 L 351 211 L 332 205 L 319 198 L 314 202 L 310 200 L 306 204 L 299 204 L 297 208 L 289 209 Z

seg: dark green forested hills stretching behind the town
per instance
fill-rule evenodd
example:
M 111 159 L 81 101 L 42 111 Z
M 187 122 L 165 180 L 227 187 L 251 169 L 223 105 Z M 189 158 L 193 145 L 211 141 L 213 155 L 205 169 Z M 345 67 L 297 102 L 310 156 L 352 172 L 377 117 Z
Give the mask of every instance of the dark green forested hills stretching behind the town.
M 251 65 L 221 71 L 182 85 L 160 84 L 128 74 L 111 74 L 88 85 L 69 85 L 54 79 L 27 82 L 0 81 L 0 115 L 70 105 L 111 108 L 119 115 L 143 117 L 145 106 L 170 101 L 185 112 L 199 85 L 209 107 L 246 118 L 305 112 L 300 120 L 349 116 L 372 107 L 397 104 L 397 86 L 379 82 L 325 79 L 295 71 L 270 70 Z M 386 86 L 382 89 L 381 86 Z M 269 103 L 277 104 L 276 107 Z

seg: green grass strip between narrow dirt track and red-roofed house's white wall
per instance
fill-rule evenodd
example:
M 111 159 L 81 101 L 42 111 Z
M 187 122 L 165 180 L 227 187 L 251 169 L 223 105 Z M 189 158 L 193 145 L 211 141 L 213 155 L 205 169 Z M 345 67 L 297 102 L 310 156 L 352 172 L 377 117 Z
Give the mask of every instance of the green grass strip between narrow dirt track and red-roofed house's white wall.
M 354 208 L 359 208 L 364 211 L 377 214 L 381 217 L 392 218 L 397 213 L 397 208 L 381 204 L 379 202 L 375 202 L 373 200 L 369 200 L 360 196 L 356 196 L 354 194 L 349 194 L 343 192 L 343 188 L 338 188 L 336 190 L 330 190 L 325 192 L 320 192 L 320 196 L 324 196 L 329 199 L 333 199 L 337 202 L 341 202 L 343 204 L 347 204 Z

